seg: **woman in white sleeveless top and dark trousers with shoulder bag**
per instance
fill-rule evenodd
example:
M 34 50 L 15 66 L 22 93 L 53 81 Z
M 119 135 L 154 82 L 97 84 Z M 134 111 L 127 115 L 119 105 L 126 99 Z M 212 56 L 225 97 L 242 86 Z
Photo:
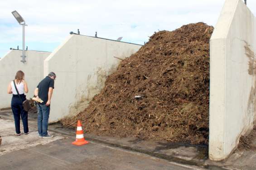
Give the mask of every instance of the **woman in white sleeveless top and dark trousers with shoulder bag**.
M 14 86 L 14 82 L 19 92 L 19 95 Z M 15 135 L 17 136 L 20 136 L 21 134 L 19 129 L 20 117 L 23 123 L 24 134 L 29 134 L 28 112 L 25 111 L 22 106 L 22 102 L 26 100 L 26 96 L 24 95 L 24 92 L 28 93 L 29 89 L 28 89 L 27 83 L 24 80 L 24 73 L 19 70 L 15 75 L 15 80 L 10 82 L 7 89 L 8 94 L 13 94 L 12 101 L 11 101 L 11 108 L 14 115 L 14 123 L 15 123 L 15 130 L 16 130 Z

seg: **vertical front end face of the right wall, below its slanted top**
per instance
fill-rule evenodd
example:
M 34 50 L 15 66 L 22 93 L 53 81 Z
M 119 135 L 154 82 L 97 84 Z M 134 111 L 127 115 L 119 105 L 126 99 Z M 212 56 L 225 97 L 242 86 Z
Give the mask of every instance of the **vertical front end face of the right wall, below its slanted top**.
M 224 39 L 212 39 L 210 41 L 210 119 L 209 119 L 209 156 L 214 152 L 216 155 L 222 155 L 222 149 L 224 145 L 224 125 L 225 115 L 221 114 L 225 112 L 225 96 L 222 95 L 225 92 L 225 86 L 223 86 L 225 80 L 225 58 L 222 57 L 225 54 L 225 40 Z M 213 48 L 214 47 L 214 48 Z M 218 50 L 214 50 L 217 48 Z M 212 57 L 214 56 L 214 58 Z M 215 70 L 221 70 L 215 72 Z M 213 91 L 214 90 L 214 91 Z

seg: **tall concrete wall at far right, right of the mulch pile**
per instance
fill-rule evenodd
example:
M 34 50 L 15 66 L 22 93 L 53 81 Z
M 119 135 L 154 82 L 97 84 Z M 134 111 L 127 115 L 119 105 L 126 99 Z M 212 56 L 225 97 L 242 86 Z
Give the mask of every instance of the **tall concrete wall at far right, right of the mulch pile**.
M 209 158 L 225 159 L 253 128 L 255 17 L 226 0 L 210 40 Z

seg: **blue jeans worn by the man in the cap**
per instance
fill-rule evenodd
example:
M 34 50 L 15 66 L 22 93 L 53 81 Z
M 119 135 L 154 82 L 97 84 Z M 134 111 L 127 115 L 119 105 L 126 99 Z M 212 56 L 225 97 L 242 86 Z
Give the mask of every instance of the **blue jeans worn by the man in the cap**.
M 39 136 L 47 136 L 48 119 L 50 114 L 50 106 L 38 105 L 38 133 Z

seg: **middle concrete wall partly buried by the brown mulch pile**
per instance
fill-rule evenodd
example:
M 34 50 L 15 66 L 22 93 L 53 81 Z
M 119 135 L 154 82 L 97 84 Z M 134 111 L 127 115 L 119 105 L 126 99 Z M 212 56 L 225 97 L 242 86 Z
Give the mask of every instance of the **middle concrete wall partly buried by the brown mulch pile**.
M 104 87 L 106 76 L 141 46 L 82 35 L 70 35 L 45 60 L 44 74 L 57 74 L 50 122 L 84 110 Z

